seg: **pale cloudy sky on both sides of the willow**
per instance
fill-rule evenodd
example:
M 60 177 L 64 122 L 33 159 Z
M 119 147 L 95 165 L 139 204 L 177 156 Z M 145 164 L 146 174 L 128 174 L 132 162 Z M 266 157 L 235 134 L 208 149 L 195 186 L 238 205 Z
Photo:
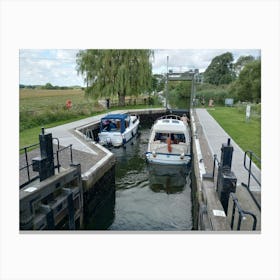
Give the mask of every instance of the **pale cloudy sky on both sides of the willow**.
M 164 49 L 155 50 L 153 73 L 166 73 L 168 68 L 173 71 L 199 69 L 203 72 L 211 60 L 227 51 L 232 52 L 237 60 L 241 55 L 260 56 L 260 50 L 240 49 Z M 44 85 L 51 83 L 57 86 L 84 85 L 83 78 L 76 71 L 77 49 L 21 49 L 19 52 L 20 83 L 24 85 Z

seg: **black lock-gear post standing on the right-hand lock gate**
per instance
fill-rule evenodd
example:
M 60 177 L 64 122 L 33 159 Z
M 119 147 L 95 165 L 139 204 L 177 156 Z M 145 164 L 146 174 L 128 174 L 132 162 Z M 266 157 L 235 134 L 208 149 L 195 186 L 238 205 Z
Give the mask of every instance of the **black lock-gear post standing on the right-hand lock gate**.
M 221 161 L 218 169 L 217 192 L 225 213 L 228 210 L 228 200 L 230 193 L 236 192 L 236 176 L 231 171 L 233 147 L 230 139 L 226 144 L 222 144 Z

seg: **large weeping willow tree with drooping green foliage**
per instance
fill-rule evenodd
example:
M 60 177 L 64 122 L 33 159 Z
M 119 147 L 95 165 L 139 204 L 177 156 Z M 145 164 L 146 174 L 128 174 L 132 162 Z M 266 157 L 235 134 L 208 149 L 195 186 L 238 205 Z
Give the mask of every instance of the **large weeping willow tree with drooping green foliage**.
M 77 54 L 77 71 L 84 76 L 86 93 L 99 97 L 125 97 L 149 92 L 152 86 L 151 50 L 82 50 Z

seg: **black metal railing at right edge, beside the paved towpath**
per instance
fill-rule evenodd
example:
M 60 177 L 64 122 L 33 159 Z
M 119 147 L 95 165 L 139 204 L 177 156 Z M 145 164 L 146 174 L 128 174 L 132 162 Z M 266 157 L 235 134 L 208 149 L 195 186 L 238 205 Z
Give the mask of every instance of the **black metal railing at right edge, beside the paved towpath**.
M 247 166 L 248 158 L 249 158 L 249 166 Z M 257 161 L 257 162 L 259 162 L 261 164 L 261 159 L 259 157 L 257 157 L 252 151 L 246 151 L 244 153 L 243 165 L 244 165 L 244 168 L 248 172 L 248 180 L 247 180 L 247 184 L 242 182 L 241 185 L 247 189 L 247 191 L 249 192 L 249 194 L 252 197 L 253 201 L 255 202 L 256 206 L 259 208 L 259 210 L 261 210 L 261 205 L 259 204 L 259 202 L 255 198 L 254 194 L 250 190 L 251 178 L 253 178 L 255 180 L 255 182 L 258 184 L 258 186 L 261 187 L 261 182 L 258 180 L 258 178 L 256 178 L 255 174 L 252 172 L 252 159 L 253 158 L 254 158 L 255 161 Z

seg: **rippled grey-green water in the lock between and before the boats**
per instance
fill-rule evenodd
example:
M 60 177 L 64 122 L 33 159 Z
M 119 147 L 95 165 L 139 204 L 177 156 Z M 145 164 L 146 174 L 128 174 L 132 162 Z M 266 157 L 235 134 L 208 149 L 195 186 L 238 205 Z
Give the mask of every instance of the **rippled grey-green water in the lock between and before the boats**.
M 190 169 L 148 165 L 150 128 L 112 149 L 117 158 L 113 222 L 109 230 L 191 230 Z

